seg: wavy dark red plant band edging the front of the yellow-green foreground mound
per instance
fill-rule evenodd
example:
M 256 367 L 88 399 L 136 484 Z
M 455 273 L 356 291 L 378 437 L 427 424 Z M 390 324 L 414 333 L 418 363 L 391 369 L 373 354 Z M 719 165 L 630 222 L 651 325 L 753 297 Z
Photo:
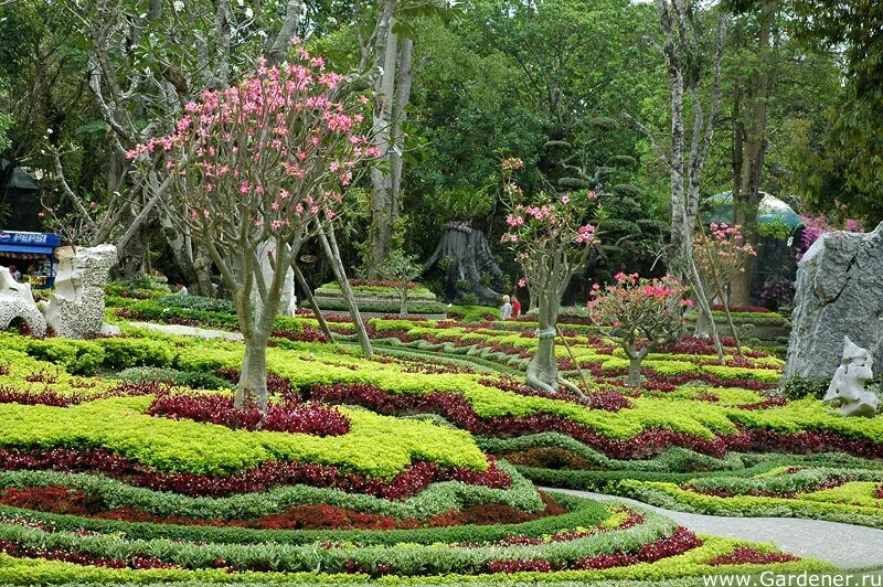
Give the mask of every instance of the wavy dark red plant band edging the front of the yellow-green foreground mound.
M 512 478 L 488 457 L 487 471 L 414 462 L 392 479 L 368 477 L 327 465 L 264 462 L 254 469 L 228 474 L 162 473 L 105 449 L 54 448 L 50 450 L 0 449 L 0 470 L 100 472 L 129 484 L 184 495 L 225 497 L 267 491 L 277 485 L 307 484 L 365 493 L 376 498 L 403 500 L 419 493 L 436 481 L 457 480 L 496 489 L 508 489 Z

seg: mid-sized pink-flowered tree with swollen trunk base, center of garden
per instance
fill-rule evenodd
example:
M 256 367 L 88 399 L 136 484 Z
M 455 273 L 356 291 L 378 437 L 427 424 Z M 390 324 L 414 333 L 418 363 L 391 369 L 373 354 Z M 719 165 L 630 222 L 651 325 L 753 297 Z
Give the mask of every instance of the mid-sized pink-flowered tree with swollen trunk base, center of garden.
M 588 222 L 597 195 L 592 191 L 554 196 L 542 193 L 530 200 L 513 180 L 514 171 L 522 167 L 519 159 L 507 159 L 502 163 L 509 214 L 508 230 L 500 242 L 515 253 L 540 312 L 536 330 L 540 340 L 536 354 L 528 365 L 526 382 L 546 392 L 556 392 L 563 384 L 581 393 L 578 387 L 558 376 L 555 337 L 561 298 L 571 278 L 585 266 L 592 245 L 597 243 L 595 226 Z

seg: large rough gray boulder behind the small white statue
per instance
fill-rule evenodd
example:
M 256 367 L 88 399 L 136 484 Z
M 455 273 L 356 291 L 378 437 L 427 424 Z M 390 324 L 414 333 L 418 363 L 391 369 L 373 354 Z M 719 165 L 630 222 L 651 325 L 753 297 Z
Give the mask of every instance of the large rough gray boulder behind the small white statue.
M 830 381 L 844 337 L 883 364 L 883 223 L 819 237 L 798 265 L 796 289 L 786 377 Z

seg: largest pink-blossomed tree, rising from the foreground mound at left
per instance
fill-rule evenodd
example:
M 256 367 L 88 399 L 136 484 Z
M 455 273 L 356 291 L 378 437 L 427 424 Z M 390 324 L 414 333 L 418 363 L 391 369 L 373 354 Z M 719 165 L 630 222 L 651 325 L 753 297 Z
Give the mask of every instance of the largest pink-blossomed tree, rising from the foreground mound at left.
M 128 153 L 162 161 L 173 217 L 204 244 L 233 295 L 245 339 L 240 406 L 266 408 L 266 346 L 286 274 L 302 243 L 340 212 L 360 161 L 377 154 L 360 134 L 368 100 L 339 88 L 342 77 L 296 43 L 287 64 L 258 60 L 255 75 L 203 92 L 173 134 Z M 259 258 L 267 242 L 269 280 Z

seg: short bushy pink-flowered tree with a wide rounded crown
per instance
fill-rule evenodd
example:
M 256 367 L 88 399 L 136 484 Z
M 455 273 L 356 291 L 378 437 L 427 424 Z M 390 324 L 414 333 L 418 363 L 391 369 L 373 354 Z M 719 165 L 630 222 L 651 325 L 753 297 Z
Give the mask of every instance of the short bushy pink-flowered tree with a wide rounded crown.
M 588 313 L 605 337 L 619 343 L 628 356 L 628 384 L 641 384 L 641 361 L 659 344 L 675 340 L 683 311 L 692 305 L 687 288 L 673 277 L 640 278 L 616 275 L 616 282 L 592 288 Z

